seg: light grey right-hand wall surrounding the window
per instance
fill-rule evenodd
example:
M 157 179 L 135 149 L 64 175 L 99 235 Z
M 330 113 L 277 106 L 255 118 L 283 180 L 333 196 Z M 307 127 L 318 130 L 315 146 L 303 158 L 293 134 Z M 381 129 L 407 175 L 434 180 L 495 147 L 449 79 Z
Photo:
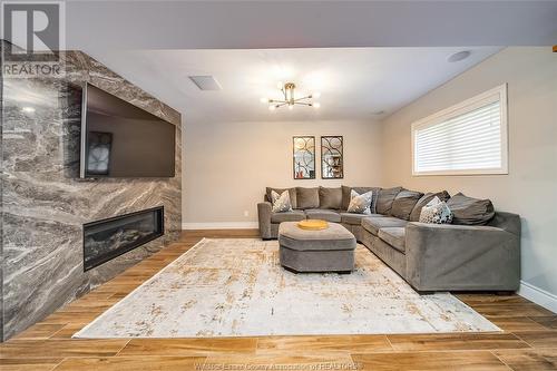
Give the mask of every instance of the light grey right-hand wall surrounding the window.
M 412 176 L 412 121 L 504 82 L 508 82 L 509 174 Z M 521 215 L 522 292 L 557 311 L 557 53 L 549 47 L 504 49 L 382 125 L 388 144 L 382 156 L 385 186 L 462 191 Z

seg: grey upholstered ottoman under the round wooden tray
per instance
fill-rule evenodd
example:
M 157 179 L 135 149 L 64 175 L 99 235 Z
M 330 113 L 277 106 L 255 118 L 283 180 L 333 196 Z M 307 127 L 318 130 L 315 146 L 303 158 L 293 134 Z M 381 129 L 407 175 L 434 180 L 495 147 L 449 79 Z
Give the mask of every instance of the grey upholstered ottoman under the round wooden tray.
M 355 237 L 345 227 L 329 223 L 326 230 L 307 231 L 297 222 L 278 226 L 281 265 L 293 272 L 340 272 L 354 270 Z

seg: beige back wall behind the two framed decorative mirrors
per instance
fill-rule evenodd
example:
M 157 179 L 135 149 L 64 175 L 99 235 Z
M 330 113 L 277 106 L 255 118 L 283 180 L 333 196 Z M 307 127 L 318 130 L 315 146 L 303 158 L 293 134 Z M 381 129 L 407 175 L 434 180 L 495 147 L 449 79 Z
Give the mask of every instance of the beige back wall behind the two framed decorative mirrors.
M 296 135 L 315 136 L 316 179 L 293 179 L 292 137 Z M 344 179 L 321 179 L 321 135 L 344 136 Z M 266 186 L 381 185 L 380 136 L 380 124 L 362 121 L 186 124 L 184 226 L 256 227 L 256 204 Z

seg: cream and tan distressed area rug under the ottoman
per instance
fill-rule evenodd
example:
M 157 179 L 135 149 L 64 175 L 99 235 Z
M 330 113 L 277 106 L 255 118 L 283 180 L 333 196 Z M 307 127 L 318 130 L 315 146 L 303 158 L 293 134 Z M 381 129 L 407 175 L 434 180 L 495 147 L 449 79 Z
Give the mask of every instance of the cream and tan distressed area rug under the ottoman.
M 364 246 L 351 274 L 295 274 L 276 241 L 203 240 L 74 338 L 500 331 L 448 293 L 419 295 Z

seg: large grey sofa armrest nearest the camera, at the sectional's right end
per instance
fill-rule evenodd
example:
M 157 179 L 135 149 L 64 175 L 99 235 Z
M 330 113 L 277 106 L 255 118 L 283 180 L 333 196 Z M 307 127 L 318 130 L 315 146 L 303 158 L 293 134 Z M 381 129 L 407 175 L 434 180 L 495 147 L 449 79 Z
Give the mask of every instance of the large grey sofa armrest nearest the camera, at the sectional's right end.
M 407 280 L 419 291 L 515 291 L 520 237 L 494 226 L 409 223 Z

